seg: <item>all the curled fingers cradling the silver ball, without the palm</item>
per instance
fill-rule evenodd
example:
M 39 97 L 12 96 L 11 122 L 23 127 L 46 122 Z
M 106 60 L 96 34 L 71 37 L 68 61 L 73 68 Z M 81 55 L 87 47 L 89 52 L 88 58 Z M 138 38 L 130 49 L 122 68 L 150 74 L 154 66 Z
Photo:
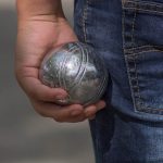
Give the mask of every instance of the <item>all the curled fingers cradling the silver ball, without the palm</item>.
M 22 83 L 34 109 L 40 115 L 51 117 L 57 122 L 76 123 L 88 118 L 92 120 L 96 113 L 105 106 L 105 102 L 102 100 L 86 108 L 80 104 L 61 106 L 54 101 L 66 98 L 67 92 L 65 90 L 45 86 L 35 76 L 25 77 Z

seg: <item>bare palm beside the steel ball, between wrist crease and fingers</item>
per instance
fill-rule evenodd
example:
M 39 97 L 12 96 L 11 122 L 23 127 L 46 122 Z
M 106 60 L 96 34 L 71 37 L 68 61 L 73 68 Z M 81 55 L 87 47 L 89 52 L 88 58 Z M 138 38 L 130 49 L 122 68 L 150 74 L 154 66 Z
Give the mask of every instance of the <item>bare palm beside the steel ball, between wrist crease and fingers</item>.
M 47 21 L 27 22 L 17 35 L 16 72 L 21 82 L 39 84 L 38 70 L 45 54 L 61 43 L 76 39 L 66 21 L 60 24 Z

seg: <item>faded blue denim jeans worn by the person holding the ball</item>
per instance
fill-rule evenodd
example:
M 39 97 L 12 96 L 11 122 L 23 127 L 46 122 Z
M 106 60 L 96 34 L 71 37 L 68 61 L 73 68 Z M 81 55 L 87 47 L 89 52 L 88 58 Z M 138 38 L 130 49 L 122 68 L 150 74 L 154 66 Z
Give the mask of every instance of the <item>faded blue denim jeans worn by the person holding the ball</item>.
M 163 0 L 76 0 L 74 18 L 110 75 L 90 121 L 96 162 L 163 163 Z

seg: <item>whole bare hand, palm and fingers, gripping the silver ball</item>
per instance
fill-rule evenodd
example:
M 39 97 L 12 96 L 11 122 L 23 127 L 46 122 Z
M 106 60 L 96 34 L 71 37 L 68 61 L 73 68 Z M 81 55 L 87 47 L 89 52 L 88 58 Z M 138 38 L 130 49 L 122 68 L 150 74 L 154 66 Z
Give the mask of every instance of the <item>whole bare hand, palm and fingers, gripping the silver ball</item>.
M 62 43 L 76 40 L 76 35 L 64 17 L 38 15 L 18 22 L 15 55 L 17 82 L 34 109 L 57 122 L 82 122 L 93 117 L 105 105 L 104 101 L 85 109 L 80 104 L 57 105 L 54 100 L 64 99 L 67 92 L 61 88 L 49 88 L 38 78 L 39 66 L 46 53 Z

